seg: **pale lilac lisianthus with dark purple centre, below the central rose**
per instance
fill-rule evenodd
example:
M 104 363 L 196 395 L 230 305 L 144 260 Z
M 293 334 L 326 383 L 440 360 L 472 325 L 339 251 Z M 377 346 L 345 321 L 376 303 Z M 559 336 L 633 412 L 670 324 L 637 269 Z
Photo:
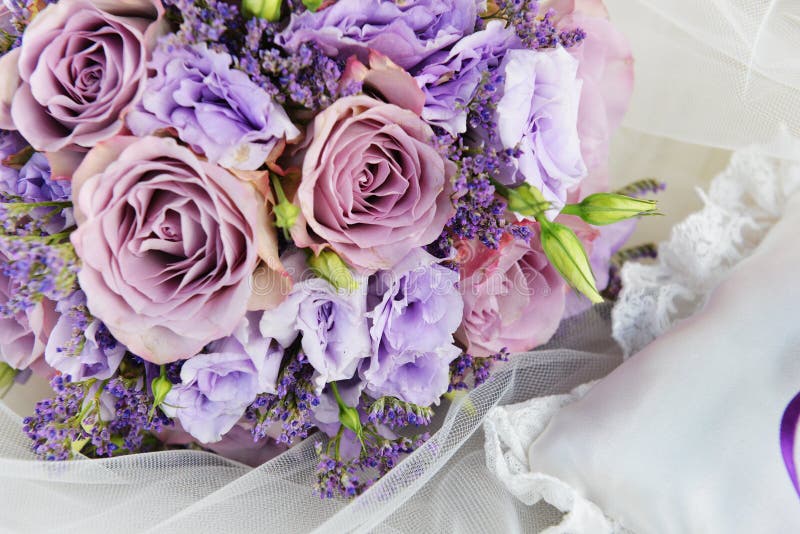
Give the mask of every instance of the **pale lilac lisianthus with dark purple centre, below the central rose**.
M 321 278 L 305 277 L 277 308 L 261 319 L 266 336 L 295 332 L 308 362 L 316 371 L 318 392 L 328 382 L 353 377 L 359 362 L 370 355 L 366 298 L 363 291 L 337 291 Z

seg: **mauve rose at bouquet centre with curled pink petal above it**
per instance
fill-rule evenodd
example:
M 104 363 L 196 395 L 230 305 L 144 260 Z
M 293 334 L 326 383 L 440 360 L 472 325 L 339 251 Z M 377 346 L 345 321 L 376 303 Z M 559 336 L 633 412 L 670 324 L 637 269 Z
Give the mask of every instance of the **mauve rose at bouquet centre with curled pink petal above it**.
M 351 96 L 317 115 L 296 195 L 301 224 L 293 230 L 299 246 L 330 245 L 366 271 L 392 267 L 439 236 L 453 213 L 456 171 L 419 117 L 424 95 L 414 79 L 382 56 L 373 54 L 371 66 L 360 72 L 363 65 L 351 62 L 348 71 L 395 103 Z

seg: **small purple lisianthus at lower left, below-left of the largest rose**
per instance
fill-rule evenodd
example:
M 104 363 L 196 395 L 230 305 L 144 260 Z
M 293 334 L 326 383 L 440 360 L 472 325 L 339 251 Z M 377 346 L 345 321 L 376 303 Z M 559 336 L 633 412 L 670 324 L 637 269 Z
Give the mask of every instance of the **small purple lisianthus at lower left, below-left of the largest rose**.
M 61 315 L 44 351 L 48 365 L 76 382 L 111 378 L 126 349 L 103 323 L 89 314 L 83 291 L 60 301 L 56 311 Z

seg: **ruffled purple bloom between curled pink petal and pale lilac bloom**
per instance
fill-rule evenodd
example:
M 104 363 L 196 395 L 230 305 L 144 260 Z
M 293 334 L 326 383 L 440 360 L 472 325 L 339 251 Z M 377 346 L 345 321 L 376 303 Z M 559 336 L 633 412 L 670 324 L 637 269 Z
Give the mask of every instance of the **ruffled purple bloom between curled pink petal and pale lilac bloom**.
M 415 76 L 425 93 L 422 118 L 451 134 L 467 131 L 468 106 L 484 74 L 497 68 L 506 50 L 521 44 L 513 28 L 493 20 L 428 58 Z

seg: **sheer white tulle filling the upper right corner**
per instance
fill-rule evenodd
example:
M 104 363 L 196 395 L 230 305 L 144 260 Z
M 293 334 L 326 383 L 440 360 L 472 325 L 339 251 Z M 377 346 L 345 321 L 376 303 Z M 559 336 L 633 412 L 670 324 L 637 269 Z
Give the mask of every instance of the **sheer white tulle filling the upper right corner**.
M 580 1 L 580 0 L 578 0 Z M 633 46 L 636 86 L 624 125 L 738 150 L 800 136 L 800 2 L 605 0 Z

